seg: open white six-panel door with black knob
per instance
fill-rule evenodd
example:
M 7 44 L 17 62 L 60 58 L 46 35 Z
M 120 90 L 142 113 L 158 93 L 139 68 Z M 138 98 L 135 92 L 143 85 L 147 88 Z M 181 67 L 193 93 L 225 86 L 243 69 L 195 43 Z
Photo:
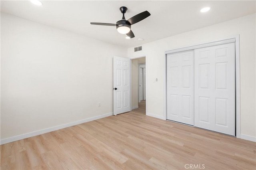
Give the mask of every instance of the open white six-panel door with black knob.
M 130 59 L 113 58 L 114 115 L 131 111 L 130 109 Z

